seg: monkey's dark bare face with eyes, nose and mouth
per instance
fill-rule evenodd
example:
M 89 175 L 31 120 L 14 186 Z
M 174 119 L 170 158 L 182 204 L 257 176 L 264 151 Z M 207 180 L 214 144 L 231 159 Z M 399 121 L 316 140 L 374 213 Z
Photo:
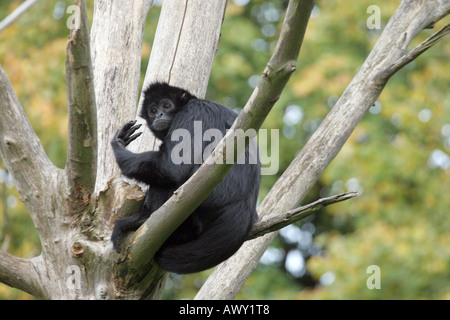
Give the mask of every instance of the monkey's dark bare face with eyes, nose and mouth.
M 172 124 L 176 107 L 170 99 L 161 99 L 147 108 L 148 125 L 153 131 L 166 131 Z

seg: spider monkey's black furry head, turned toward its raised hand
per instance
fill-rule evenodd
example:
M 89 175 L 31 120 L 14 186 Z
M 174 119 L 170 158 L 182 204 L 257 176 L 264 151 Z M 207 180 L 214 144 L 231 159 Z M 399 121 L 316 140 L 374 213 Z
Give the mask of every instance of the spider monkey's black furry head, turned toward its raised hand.
M 197 98 L 184 89 L 165 82 L 155 82 L 144 91 L 144 102 L 139 116 L 147 121 L 155 137 L 163 140 L 175 114 L 192 99 Z

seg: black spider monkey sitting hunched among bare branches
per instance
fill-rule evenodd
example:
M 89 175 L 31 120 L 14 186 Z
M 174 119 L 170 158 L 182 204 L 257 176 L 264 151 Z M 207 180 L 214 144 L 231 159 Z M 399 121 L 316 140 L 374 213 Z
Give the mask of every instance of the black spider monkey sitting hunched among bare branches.
M 184 89 L 167 83 L 153 83 L 144 91 L 140 116 L 162 144 L 158 151 L 140 154 L 128 151 L 125 147 L 141 134 L 135 133 L 140 127 L 136 121 L 127 122 L 111 141 L 123 175 L 150 185 L 141 210 L 115 223 L 111 240 L 117 252 L 120 251 L 122 235 L 136 230 L 200 167 L 201 161 L 194 159 L 194 148 L 198 151 L 195 143 L 189 144 L 191 161 L 181 164 L 173 162 L 172 151 L 179 143 L 172 141 L 174 131 L 185 129 L 193 137 L 194 121 L 201 121 L 202 136 L 208 129 L 218 129 L 225 135 L 237 114 L 218 103 L 197 99 Z M 207 144 L 202 141 L 202 151 Z M 245 151 L 245 157 L 250 157 L 249 148 Z M 156 262 L 163 269 L 180 274 L 199 272 L 228 259 L 239 249 L 257 219 L 256 202 L 261 172 L 259 156 L 254 162 L 241 164 L 238 161 L 205 201 L 167 239 L 155 255 Z

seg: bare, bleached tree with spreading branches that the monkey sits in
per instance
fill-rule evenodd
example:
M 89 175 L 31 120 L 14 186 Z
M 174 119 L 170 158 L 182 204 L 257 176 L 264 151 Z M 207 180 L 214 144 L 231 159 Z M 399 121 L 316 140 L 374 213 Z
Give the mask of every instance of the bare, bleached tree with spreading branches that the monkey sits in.
M 46 299 L 159 298 L 167 273 L 152 256 L 231 167 L 205 162 L 128 237 L 121 254 L 112 250 L 113 221 L 136 212 L 144 195 L 120 178 L 109 141 L 120 124 L 136 117 L 142 32 L 152 0 L 96 1 L 90 33 L 86 3 L 75 2 L 80 28 L 71 30 L 67 45 L 65 169 L 48 159 L 0 68 L 0 152 L 42 243 L 42 253 L 31 259 L 0 251 L 0 281 Z M 274 54 L 234 128 L 258 129 L 270 112 L 296 69 L 313 5 L 313 0 L 289 2 Z M 144 85 L 165 80 L 204 96 L 225 6 L 225 0 L 165 0 Z M 276 235 L 266 232 L 285 225 L 280 223 L 284 218 L 298 218 L 289 211 L 336 156 L 390 76 L 449 33 L 449 27 L 407 52 L 411 40 L 449 12 L 445 0 L 402 1 L 335 107 L 259 206 L 257 238 L 216 267 L 197 299 L 236 295 Z M 153 147 L 148 132 L 139 140 L 135 151 Z M 215 152 L 211 157 L 222 156 Z

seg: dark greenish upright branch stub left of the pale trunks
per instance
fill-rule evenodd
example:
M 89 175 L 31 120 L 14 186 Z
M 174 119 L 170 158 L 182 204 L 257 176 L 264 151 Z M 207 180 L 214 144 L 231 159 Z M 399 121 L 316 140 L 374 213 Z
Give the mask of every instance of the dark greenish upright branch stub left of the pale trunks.
M 72 210 L 81 212 L 90 204 L 97 170 L 97 115 L 89 45 L 86 1 L 77 0 L 80 22 L 73 27 L 67 44 L 66 86 L 69 108 L 69 148 L 66 172 Z

